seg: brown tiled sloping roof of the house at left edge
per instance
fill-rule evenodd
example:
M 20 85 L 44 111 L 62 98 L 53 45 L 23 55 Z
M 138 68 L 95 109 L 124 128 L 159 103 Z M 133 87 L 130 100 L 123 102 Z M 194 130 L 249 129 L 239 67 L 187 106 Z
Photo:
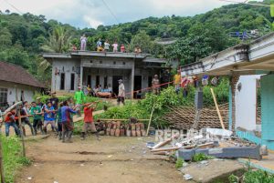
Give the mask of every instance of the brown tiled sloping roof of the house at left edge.
M 12 82 L 26 86 L 44 87 L 34 76 L 21 66 L 0 61 L 0 81 Z

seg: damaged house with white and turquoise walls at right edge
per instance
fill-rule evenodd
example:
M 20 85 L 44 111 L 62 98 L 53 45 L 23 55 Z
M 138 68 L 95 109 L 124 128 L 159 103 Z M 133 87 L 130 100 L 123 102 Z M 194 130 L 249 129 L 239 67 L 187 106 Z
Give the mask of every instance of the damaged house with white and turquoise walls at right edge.
M 272 150 L 274 150 L 273 72 L 274 33 L 262 36 L 248 45 L 233 46 L 182 67 L 182 76 L 230 76 L 230 129 L 235 130 L 239 137 L 267 145 Z M 254 133 L 255 130 L 261 132 Z

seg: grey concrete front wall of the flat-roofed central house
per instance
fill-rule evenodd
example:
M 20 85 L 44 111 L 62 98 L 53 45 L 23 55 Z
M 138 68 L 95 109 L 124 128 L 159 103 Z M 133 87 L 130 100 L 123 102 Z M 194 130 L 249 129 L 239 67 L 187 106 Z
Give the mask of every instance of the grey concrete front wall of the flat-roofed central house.
M 139 62 L 139 61 L 136 61 Z M 100 85 L 104 86 L 104 77 L 108 76 L 108 84 L 112 87 L 112 76 L 122 76 L 126 92 L 132 91 L 132 67 L 133 59 L 128 58 L 90 58 L 83 57 L 82 60 L 71 58 L 56 58 L 52 62 L 52 91 L 60 91 L 61 73 L 65 74 L 65 92 L 74 92 L 79 86 L 80 75 L 77 72 L 80 66 L 83 66 L 83 86 L 88 84 L 88 76 L 91 76 L 91 86 L 95 87 L 96 76 L 100 76 Z M 159 75 L 159 69 L 135 67 L 134 76 L 142 76 L 142 88 L 149 86 L 149 77 L 155 74 Z M 55 75 L 58 69 L 59 75 Z M 75 90 L 70 90 L 70 76 L 75 74 Z

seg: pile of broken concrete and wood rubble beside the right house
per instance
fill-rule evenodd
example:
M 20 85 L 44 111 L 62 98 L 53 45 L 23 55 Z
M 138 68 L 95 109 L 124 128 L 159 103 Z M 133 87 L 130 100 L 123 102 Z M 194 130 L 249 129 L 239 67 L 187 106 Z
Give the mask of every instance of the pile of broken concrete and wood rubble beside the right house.
M 195 154 L 215 158 L 254 158 L 260 160 L 267 150 L 233 136 L 233 132 L 219 128 L 190 129 L 187 134 L 174 135 L 158 144 L 148 143 L 154 154 L 170 155 L 176 151 L 176 158 L 192 160 Z M 266 147 L 264 147 L 266 148 Z

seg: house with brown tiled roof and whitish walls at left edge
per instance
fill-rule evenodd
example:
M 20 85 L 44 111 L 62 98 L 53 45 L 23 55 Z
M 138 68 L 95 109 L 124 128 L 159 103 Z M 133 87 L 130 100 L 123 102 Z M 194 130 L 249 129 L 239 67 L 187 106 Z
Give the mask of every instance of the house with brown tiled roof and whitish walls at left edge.
M 21 66 L 0 62 L 0 108 L 18 100 L 33 101 L 36 92 L 44 87 Z M 17 90 L 17 95 L 16 95 Z

